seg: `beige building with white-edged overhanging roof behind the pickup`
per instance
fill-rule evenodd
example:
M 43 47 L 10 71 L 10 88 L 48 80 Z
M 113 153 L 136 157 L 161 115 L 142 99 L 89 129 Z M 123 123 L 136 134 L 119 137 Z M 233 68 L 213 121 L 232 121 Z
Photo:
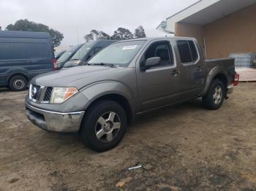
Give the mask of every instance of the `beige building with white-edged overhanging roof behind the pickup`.
M 256 52 L 256 0 L 201 0 L 170 16 L 157 29 L 195 37 L 206 58 Z

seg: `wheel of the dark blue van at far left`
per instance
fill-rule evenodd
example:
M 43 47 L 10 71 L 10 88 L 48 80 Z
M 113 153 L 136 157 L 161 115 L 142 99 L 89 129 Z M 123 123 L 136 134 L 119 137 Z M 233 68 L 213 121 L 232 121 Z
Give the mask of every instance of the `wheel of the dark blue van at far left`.
M 28 87 L 28 80 L 20 75 L 14 76 L 10 79 L 9 87 L 12 91 L 26 90 L 26 87 Z

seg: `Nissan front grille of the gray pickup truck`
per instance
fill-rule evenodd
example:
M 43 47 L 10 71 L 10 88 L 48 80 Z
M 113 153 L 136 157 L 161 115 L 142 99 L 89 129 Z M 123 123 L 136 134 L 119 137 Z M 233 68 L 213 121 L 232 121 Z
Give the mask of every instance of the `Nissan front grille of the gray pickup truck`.
M 53 87 L 30 85 L 29 98 L 34 102 L 49 103 Z

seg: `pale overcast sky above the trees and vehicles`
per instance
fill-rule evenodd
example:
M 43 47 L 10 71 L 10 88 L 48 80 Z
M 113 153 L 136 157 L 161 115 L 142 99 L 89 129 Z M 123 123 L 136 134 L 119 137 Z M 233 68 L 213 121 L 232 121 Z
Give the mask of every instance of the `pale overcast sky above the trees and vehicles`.
M 118 27 L 143 26 L 146 36 L 165 36 L 162 20 L 198 0 L 0 0 L 2 30 L 16 20 L 42 23 L 64 34 L 61 46 L 83 42 L 91 29 L 112 35 Z

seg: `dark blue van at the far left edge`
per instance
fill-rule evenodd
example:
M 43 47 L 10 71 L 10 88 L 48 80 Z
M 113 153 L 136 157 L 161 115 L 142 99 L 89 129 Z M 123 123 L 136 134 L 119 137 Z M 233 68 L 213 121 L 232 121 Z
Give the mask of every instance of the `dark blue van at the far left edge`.
M 0 86 L 25 90 L 31 78 L 54 69 L 48 33 L 0 31 Z

